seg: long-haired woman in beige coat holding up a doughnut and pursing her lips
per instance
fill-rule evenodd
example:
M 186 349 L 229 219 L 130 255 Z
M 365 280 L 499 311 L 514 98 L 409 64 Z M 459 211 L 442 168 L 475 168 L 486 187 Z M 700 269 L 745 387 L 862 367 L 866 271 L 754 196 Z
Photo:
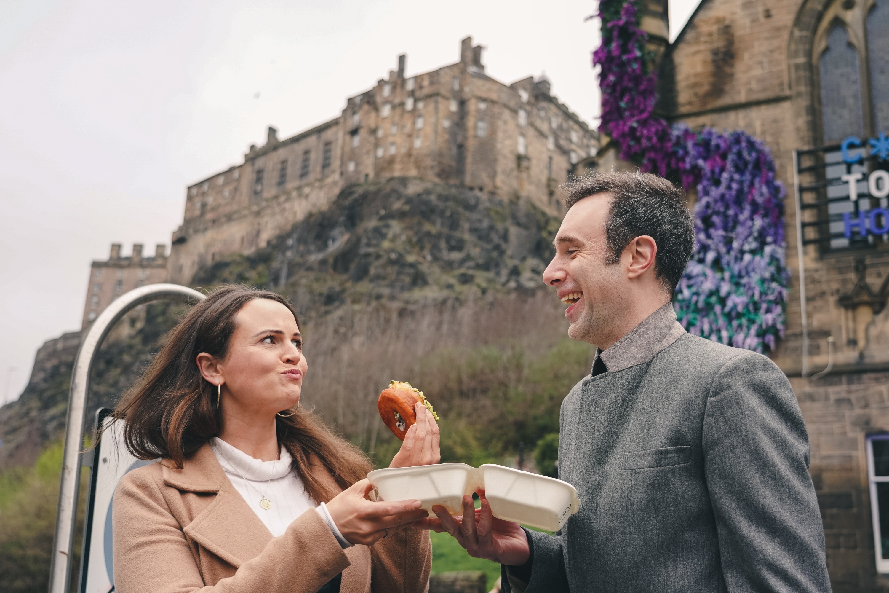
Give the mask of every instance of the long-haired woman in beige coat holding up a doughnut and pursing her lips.
M 116 410 L 131 453 L 161 458 L 117 486 L 117 593 L 428 587 L 428 533 L 405 529 L 426 511 L 368 499 L 364 454 L 300 409 L 307 367 L 274 292 L 219 288 L 176 325 Z M 438 461 L 418 404 L 389 467 Z

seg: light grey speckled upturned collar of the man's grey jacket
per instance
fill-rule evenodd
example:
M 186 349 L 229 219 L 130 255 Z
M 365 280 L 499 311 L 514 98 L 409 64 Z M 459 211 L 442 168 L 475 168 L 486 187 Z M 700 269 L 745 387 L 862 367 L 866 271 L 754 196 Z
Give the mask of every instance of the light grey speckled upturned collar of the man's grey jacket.
M 654 311 L 629 331 L 627 335 L 614 342 L 609 349 L 596 349 L 593 361 L 593 375 L 600 374 L 597 369 L 599 358 L 605 363 L 605 371 L 617 373 L 630 366 L 647 363 L 670 344 L 677 341 L 685 333 L 685 328 L 676 320 L 673 303 Z M 599 371 L 599 373 L 597 373 Z

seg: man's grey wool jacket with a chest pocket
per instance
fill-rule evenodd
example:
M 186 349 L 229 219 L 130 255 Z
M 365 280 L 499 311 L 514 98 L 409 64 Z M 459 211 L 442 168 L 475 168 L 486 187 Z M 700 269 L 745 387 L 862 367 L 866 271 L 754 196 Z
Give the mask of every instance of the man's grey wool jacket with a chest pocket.
M 609 371 L 565 397 L 559 477 L 581 509 L 555 536 L 530 532 L 527 593 L 830 591 L 787 378 L 669 321 L 648 327 L 650 356 L 605 350 Z

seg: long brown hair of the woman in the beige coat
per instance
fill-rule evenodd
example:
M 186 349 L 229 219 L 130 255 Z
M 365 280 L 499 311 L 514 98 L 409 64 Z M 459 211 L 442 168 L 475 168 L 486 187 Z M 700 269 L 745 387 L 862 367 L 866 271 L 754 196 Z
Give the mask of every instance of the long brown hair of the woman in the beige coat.
M 161 457 L 181 469 L 186 459 L 220 433 L 222 415 L 216 405 L 216 387 L 204 380 L 196 357 L 201 352 L 217 359 L 226 356 L 237 312 L 253 299 L 281 303 L 300 325 L 292 305 L 275 292 L 239 284 L 210 292 L 167 334 L 148 370 L 116 407 L 115 417 L 126 421 L 124 440 L 130 453 L 143 460 Z M 287 447 L 293 469 L 315 501 L 330 501 L 336 493 L 312 473 L 313 458 L 343 489 L 372 469 L 364 453 L 333 434 L 314 413 L 302 408 L 275 420 L 278 443 Z

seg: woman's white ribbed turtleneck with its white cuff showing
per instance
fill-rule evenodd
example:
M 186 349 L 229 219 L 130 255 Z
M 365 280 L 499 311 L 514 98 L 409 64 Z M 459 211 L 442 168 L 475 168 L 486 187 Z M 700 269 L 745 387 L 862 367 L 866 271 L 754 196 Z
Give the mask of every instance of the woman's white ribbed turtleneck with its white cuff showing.
M 285 447 L 281 447 L 277 461 L 255 459 L 219 437 L 211 439 L 210 448 L 231 485 L 273 536 L 283 535 L 293 519 L 308 509 L 316 509 L 340 545 L 343 548 L 352 545 L 333 523 L 324 502 L 316 505 L 309 498 L 302 480 L 292 469 L 292 457 Z M 271 502 L 270 508 L 260 506 L 263 498 Z

